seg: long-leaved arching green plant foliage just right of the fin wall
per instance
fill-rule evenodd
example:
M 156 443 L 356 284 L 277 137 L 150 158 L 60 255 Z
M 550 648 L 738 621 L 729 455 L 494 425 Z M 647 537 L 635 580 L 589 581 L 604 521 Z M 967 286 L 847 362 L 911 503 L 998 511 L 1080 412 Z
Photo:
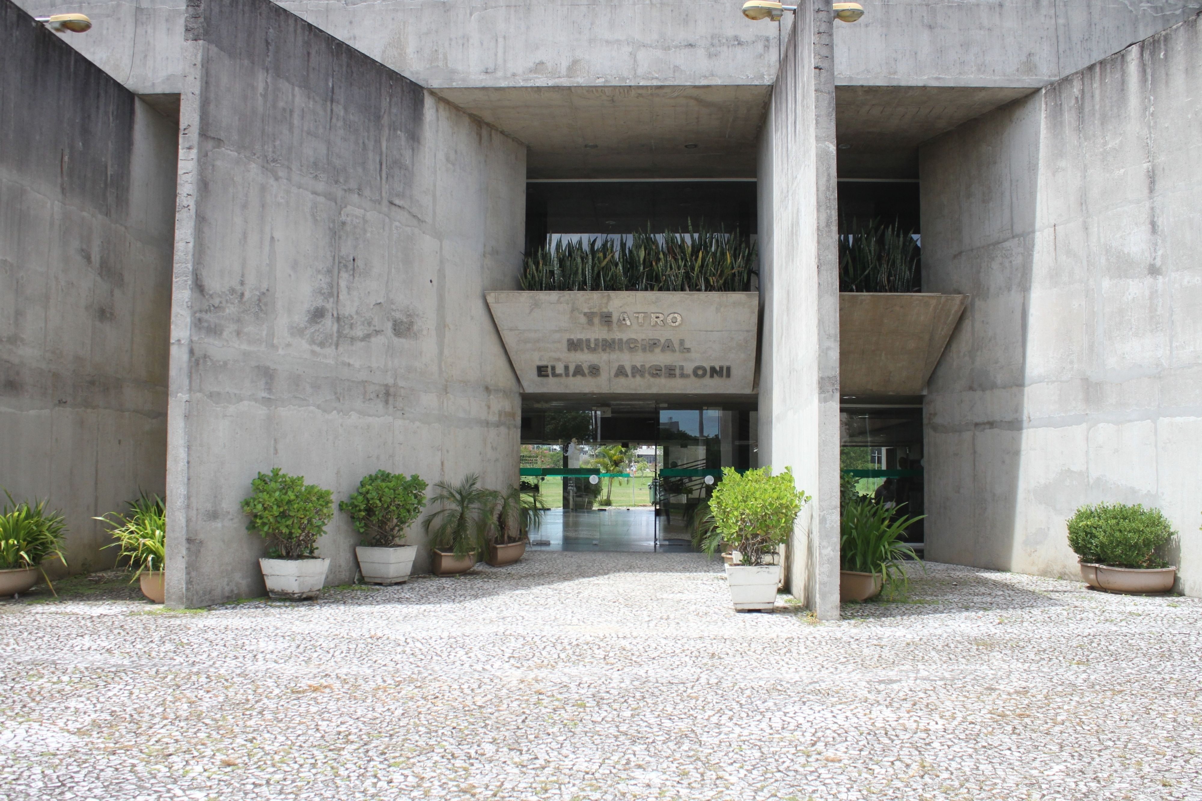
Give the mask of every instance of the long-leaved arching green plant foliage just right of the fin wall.
M 881 574 L 889 585 L 905 583 L 902 563 L 905 559 L 917 562 L 918 554 L 902 538 L 926 515 L 906 517 L 897 511 L 898 508 L 888 508 L 867 496 L 846 502 L 839 535 L 841 570 Z

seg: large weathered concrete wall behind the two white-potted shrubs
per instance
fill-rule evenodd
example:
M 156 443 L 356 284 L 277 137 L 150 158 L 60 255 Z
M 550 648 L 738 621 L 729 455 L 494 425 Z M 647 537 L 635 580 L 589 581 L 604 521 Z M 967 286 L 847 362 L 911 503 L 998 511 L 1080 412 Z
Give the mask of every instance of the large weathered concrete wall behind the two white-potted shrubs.
M 263 593 L 239 502 L 279 465 L 517 480 L 524 149 L 267 0 L 189 7 L 172 308 L 167 600 Z M 355 576 L 339 512 L 321 554 Z M 422 542 L 413 535 L 411 542 Z M 422 571 L 428 553 L 415 565 Z

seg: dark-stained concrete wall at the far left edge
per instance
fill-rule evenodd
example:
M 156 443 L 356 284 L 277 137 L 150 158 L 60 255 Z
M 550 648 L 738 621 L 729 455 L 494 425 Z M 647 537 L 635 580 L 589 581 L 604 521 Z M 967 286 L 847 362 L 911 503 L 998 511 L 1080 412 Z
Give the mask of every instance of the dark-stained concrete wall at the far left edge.
M 93 516 L 162 492 L 175 127 L 0 0 L 0 486 Z

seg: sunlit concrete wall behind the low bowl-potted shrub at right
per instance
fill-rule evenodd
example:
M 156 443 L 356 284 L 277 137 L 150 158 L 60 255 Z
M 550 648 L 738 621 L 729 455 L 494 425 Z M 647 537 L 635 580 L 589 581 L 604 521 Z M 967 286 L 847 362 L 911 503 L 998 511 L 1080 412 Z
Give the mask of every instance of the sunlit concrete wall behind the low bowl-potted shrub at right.
M 972 296 L 927 398 L 927 553 L 1076 576 L 1085 503 L 1161 508 L 1202 594 L 1202 18 L 922 152 L 927 291 Z

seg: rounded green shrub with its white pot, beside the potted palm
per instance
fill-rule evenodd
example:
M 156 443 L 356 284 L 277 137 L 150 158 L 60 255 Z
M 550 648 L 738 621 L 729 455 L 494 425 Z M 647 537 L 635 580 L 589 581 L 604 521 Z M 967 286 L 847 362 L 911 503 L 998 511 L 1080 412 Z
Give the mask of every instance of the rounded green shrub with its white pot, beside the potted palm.
M 405 527 L 426 506 L 426 482 L 416 473 L 407 479 L 398 473 L 376 470 L 363 476 L 359 488 L 339 504 L 350 512 L 351 523 L 364 545 L 355 548 L 363 581 L 370 585 L 399 585 L 409 581 L 416 545 L 404 545 Z

